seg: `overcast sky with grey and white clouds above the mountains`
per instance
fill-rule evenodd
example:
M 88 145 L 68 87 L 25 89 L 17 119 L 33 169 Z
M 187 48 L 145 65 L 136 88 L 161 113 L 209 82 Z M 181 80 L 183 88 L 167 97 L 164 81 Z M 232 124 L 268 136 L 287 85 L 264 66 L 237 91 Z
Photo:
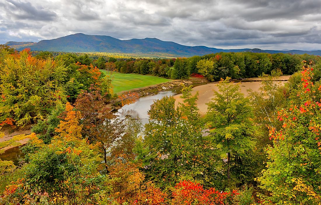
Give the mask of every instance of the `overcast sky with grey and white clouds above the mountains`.
M 321 50 L 321 0 L 0 0 L 0 43 L 74 33 Z

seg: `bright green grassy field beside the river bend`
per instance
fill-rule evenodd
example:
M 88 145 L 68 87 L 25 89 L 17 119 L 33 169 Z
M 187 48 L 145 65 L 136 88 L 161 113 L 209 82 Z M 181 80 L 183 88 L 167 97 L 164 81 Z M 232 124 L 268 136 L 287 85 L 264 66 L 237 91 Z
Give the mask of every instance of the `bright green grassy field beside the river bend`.
M 106 73 L 106 70 L 100 70 Z M 134 88 L 142 88 L 149 85 L 155 85 L 159 83 L 165 83 L 171 81 L 171 79 L 156 77 L 152 75 L 139 75 L 139 74 L 123 74 L 113 72 L 112 85 L 114 87 L 114 93 L 122 91 L 129 91 Z

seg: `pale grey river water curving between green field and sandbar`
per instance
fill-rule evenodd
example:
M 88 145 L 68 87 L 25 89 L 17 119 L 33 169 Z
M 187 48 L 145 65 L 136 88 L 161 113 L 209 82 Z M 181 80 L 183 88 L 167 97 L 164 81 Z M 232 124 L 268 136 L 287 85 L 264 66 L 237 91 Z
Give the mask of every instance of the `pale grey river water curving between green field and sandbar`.
M 176 92 L 174 91 L 162 91 L 156 95 L 147 96 L 140 98 L 137 102 L 125 105 L 117 111 L 117 115 L 121 118 L 125 118 L 126 115 L 132 116 L 134 119 L 139 119 L 143 125 L 148 123 L 148 111 L 151 109 L 151 105 L 155 100 L 161 99 L 165 96 L 173 96 Z

